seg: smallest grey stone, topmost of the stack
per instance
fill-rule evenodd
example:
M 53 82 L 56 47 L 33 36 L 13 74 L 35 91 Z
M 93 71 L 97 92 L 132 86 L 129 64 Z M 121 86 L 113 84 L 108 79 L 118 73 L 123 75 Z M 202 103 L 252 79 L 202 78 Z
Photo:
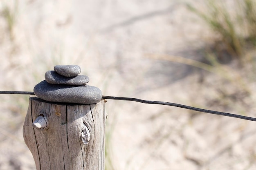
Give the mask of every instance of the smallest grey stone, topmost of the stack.
M 56 65 L 54 71 L 65 77 L 74 77 L 81 73 L 81 68 L 78 65 Z

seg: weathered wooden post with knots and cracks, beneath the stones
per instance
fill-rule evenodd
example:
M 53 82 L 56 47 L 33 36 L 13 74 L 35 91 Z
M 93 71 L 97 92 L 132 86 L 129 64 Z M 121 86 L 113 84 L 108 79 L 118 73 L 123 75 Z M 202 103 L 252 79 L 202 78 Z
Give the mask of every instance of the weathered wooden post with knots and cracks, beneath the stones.
M 104 103 L 61 104 L 31 95 L 23 137 L 36 170 L 104 170 Z

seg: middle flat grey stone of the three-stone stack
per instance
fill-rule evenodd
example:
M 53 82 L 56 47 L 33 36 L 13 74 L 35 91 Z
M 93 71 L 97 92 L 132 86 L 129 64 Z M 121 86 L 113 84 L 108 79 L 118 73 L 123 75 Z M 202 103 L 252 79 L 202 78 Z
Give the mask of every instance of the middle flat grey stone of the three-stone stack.
M 77 75 L 76 77 L 64 77 L 55 71 L 47 71 L 45 73 L 45 80 L 49 84 L 65 84 L 80 86 L 89 82 L 89 77 L 86 75 Z

